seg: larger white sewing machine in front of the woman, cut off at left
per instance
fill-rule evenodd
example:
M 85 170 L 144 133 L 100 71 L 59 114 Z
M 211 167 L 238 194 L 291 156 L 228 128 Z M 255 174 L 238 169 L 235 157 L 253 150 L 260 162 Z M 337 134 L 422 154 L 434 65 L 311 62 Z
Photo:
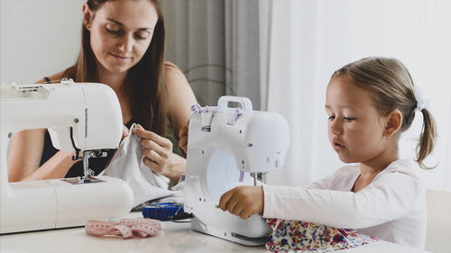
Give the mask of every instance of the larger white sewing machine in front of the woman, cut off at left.
M 87 159 L 117 149 L 123 122 L 113 89 L 101 84 L 1 85 L 0 233 L 82 226 L 89 219 L 124 216 L 133 193 L 124 181 L 92 175 Z M 47 128 L 56 149 L 76 151 L 85 175 L 8 182 L 7 153 L 14 133 Z

